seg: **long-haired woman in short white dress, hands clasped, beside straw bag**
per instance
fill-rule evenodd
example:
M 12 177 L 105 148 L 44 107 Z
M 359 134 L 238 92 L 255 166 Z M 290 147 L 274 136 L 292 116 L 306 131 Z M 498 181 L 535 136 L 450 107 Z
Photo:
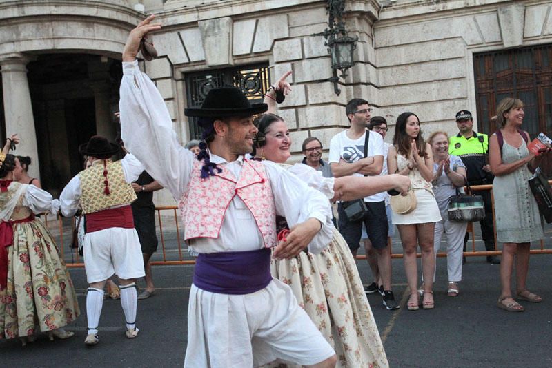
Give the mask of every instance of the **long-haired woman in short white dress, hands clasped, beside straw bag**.
M 441 214 L 435 195 L 431 190 L 433 180 L 433 153 L 431 146 L 424 142 L 420 130 L 420 119 L 413 113 L 402 113 L 397 117 L 393 147 L 387 155 L 389 173 L 406 175 L 412 183 L 416 208 L 406 214 L 393 211 L 393 224 L 397 225 L 402 242 L 404 269 L 410 288 L 408 310 L 419 309 L 419 296 L 416 291 L 418 273 L 416 249 L 422 251 L 422 273 L 424 287 L 422 307 L 433 309 L 433 273 L 435 272 L 435 251 L 433 250 L 435 222 Z

